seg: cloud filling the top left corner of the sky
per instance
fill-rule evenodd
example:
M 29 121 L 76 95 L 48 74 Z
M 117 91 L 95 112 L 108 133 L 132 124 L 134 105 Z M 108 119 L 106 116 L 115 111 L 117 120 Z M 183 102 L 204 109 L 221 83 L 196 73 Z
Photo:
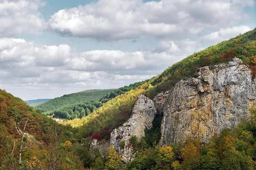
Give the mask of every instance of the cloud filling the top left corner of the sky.
M 0 0 L 0 38 L 45 29 L 45 21 L 38 11 L 42 6 L 41 0 Z

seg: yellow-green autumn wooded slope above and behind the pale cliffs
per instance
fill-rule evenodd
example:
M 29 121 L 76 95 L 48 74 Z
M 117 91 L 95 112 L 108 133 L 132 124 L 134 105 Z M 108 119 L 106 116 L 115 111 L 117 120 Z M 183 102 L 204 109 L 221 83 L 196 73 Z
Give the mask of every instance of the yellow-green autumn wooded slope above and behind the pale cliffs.
M 194 53 L 168 67 L 163 73 L 136 90 L 131 90 L 108 101 L 88 117 L 74 119 L 65 124 L 70 124 L 73 127 L 80 126 L 79 136 L 81 139 L 88 138 L 95 132 L 107 132 L 122 125 L 131 116 L 132 106 L 134 106 L 138 94 L 145 94 L 152 99 L 159 92 L 170 89 L 175 82 L 194 76 L 199 67 L 227 62 L 234 57 L 238 57 L 243 60 L 244 64 L 248 64 L 252 69 L 252 74 L 256 73 L 256 29 Z

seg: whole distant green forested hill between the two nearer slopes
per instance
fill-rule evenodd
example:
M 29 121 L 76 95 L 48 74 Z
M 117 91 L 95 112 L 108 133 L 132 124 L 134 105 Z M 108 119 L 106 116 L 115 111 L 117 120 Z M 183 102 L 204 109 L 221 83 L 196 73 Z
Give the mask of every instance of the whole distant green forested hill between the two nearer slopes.
M 39 106 L 35 106 L 35 108 L 37 111 L 43 112 L 45 115 L 52 116 L 53 118 L 61 118 L 65 120 L 82 118 L 90 115 L 90 113 L 100 108 L 103 103 L 106 103 L 110 99 L 113 99 L 120 94 L 125 94 L 125 92 L 129 92 L 130 90 L 134 90 L 147 81 L 148 80 L 132 83 L 129 86 L 124 86 L 116 90 L 88 90 L 75 94 L 68 94 L 52 99 Z M 93 97 L 94 95 L 95 97 Z M 99 98 L 100 96 L 102 97 Z M 62 103 L 62 101 L 64 102 Z

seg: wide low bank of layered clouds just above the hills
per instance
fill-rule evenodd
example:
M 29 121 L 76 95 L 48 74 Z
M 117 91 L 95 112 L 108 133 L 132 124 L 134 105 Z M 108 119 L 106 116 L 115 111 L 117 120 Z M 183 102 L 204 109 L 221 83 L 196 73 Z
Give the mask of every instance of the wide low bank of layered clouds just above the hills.
M 217 38 L 211 36 L 216 34 L 212 32 L 209 37 L 163 40 L 152 50 L 136 52 L 76 52 L 65 44 L 47 46 L 25 39 L 0 38 L 0 87 L 23 99 L 118 88 L 152 78 L 191 53 L 212 45 L 213 41 L 206 43 L 205 39 L 225 40 L 247 30 L 246 26 L 228 27 L 217 31 Z

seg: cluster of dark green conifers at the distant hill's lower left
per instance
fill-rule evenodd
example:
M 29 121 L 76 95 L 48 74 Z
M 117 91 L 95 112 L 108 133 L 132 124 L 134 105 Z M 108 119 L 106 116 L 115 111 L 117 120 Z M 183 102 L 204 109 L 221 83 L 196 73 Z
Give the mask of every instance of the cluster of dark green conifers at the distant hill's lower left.
M 93 111 L 100 108 L 102 103 L 99 101 L 90 101 L 81 104 L 74 104 L 66 106 L 59 110 L 54 110 L 47 115 L 53 115 L 54 118 L 63 118 L 67 120 L 72 120 L 74 118 L 82 118 L 90 115 Z

